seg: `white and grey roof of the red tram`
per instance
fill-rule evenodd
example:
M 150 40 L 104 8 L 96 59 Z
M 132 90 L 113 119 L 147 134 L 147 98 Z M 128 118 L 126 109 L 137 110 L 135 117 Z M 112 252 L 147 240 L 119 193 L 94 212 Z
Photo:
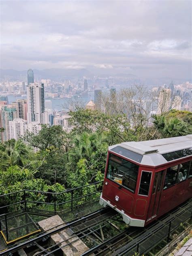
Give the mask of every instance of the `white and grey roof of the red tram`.
M 159 166 L 192 155 L 192 134 L 159 140 L 123 142 L 109 150 L 147 166 Z

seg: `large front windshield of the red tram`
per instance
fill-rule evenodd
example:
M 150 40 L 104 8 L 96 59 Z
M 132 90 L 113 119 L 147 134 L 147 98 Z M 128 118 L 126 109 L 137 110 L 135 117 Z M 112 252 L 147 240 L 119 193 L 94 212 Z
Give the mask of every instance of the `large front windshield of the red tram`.
M 107 178 L 135 191 L 139 166 L 113 154 L 109 155 Z

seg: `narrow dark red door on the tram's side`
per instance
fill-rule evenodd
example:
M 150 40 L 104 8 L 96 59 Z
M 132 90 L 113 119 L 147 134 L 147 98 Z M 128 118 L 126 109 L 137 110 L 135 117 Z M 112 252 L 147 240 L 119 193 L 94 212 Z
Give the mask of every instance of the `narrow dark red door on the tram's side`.
M 155 174 L 153 191 L 152 191 L 152 195 L 151 195 L 151 202 L 149 205 L 149 212 L 148 212 L 147 219 L 150 219 L 151 217 L 154 217 L 158 214 L 163 174 L 164 174 L 164 170 L 162 170 L 160 172 L 156 172 L 156 174 Z

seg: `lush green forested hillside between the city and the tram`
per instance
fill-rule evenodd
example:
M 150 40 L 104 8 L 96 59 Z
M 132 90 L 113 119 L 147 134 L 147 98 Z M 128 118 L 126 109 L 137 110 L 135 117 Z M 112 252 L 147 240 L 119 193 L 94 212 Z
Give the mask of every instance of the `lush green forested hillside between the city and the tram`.
M 60 192 L 102 181 L 109 145 L 192 133 L 192 113 L 186 111 L 154 116 L 152 127 L 143 125 L 141 117 L 134 130 L 124 114 L 79 109 L 70 116 L 69 133 L 60 126 L 43 126 L 36 136 L 28 133 L 0 144 L 0 194 Z

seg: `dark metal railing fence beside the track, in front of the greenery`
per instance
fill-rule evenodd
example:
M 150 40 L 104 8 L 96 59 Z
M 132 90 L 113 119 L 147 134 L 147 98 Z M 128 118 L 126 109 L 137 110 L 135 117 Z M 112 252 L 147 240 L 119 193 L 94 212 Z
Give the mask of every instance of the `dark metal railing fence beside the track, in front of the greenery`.
M 98 202 L 101 190 L 102 181 L 60 193 L 24 189 L 1 195 L 0 232 L 6 243 L 10 243 L 40 231 L 35 224 L 40 219 L 31 218 L 31 215 L 41 218 L 56 214 L 77 217 L 83 208 Z

